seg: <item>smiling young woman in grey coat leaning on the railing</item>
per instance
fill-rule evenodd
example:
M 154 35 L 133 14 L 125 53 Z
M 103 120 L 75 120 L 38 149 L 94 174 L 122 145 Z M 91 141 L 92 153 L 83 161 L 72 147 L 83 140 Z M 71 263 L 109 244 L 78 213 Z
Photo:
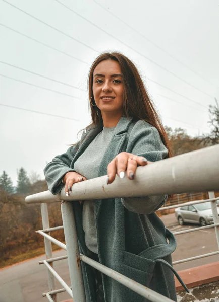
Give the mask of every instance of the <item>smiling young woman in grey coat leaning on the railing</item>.
M 109 186 L 116 174 L 132 181 L 137 166 L 170 156 L 165 129 L 127 57 L 117 52 L 97 57 L 88 89 L 92 124 L 44 169 L 53 194 L 65 186 L 68 196 L 74 183 L 106 174 Z M 82 254 L 176 301 L 171 266 L 176 241 L 154 213 L 165 201 L 166 196 L 75 201 L 73 210 Z M 83 262 L 82 272 L 87 302 L 147 301 Z

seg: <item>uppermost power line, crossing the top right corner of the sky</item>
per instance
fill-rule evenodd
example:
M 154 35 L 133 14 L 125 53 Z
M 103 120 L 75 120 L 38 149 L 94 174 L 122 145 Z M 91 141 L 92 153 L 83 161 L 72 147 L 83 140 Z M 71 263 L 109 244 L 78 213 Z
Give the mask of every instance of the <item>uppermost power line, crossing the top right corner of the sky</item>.
M 215 84 L 211 83 L 209 80 L 207 80 L 206 78 L 203 77 L 203 75 L 199 74 L 197 71 L 191 69 L 188 65 L 186 65 L 185 63 L 183 63 L 182 61 L 180 61 L 179 59 L 177 59 L 176 57 L 174 57 L 172 54 L 170 54 L 167 50 L 163 49 L 162 47 L 160 47 L 159 45 L 157 45 L 156 43 L 154 43 L 152 40 L 150 40 L 148 37 L 145 37 L 143 34 L 141 34 L 139 31 L 137 31 L 134 27 L 130 26 L 128 23 L 126 23 L 125 21 L 123 21 L 122 19 L 120 19 L 118 16 L 116 16 L 114 13 L 112 13 L 111 11 L 107 10 L 104 6 L 102 6 L 100 3 L 98 3 L 96 0 L 93 0 L 93 2 L 95 2 L 98 6 L 100 6 L 103 10 L 105 10 L 108 14 L 111 14 L 112 16 L 114 16 L 116 19 L 118 19 L 119 21 L 121 21 L 123 24 L 125 24 L 127 27 L 129 27 L 130 29 L 132 29 L 134 32 L 136 32 L 137 34 L 139 34 L 141 37 L 143 37 L 144 39 L 146 39 L 148 42 L 150 42 L 151 44 L 153 44 L 155 47 L 157 47 L 159 50 L 161 50 L 162 52 L 166 53 L 167 55 L 169 55 L 171 58 L 173 58 L 174 60 L 176 60 L 178 63 L 182 64 L 184 67 L 186 67 L 187 69 L 189 69 L 190 71 L 192 71 L 193 73 L 195 73 L 196 75 L 198 75 L 198 77 L 202 78 L 204 81 L 208 82 L 209 84 L 213 85 L 214 87 L 216 86 Z M 216 86 L 218 88 L 218 86 Z

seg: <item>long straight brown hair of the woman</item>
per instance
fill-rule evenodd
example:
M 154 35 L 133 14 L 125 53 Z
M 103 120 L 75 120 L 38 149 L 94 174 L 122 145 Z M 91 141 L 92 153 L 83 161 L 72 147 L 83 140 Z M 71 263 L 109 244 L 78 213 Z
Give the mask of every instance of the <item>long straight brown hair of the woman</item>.
M 159 115 L 154 109 L 153 102 L 150 100 L 147 94 L 138 69 L 130 59 L 119 52 L 105 52 L 99 55 L 90 68 L 88 76 L 88 92 L 90 100 L 90 112 L 93 122 L 88 127 L 92 125 L 97 126 L 103 124 L 100 110 L 97 106 L 95 106 L 96 104 L 92 87 L 94 69 L 100 62 L 104 60 L 113 60 L 118 62 L 120 65 L 124 83 L 124 115 L 127 117 L 133 117 L 136 120 L 144 120 L 154 126 L 158 130 L 163 144 L 168 149 L 167 157 L 171 157 L 172 152 L 167 133 L 160 121 Z

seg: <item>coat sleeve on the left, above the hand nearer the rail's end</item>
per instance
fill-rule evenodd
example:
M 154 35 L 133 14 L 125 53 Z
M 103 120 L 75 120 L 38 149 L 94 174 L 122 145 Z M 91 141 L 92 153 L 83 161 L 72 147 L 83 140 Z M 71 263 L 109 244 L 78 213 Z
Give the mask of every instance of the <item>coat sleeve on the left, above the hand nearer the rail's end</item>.
M 85 133 L 83 133 L 81 140 L 84 138 L 84 135 Z M 52 194 L 58 194 L 65 186 L 62 183 L 62 179 L 67 172 L 76 172 L 70 167 L 79 147 L 80 141 L 68 148 L 66 153 L 56 156 L 44 168 L 45 180 L 47 182 L 48 189 Z

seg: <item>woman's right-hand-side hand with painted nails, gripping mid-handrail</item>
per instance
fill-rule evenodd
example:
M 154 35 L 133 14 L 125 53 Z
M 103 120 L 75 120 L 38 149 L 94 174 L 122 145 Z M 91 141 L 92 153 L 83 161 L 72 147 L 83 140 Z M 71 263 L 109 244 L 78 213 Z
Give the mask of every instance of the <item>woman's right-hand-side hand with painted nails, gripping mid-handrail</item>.
M 148 162 L 142 156 L 136 156 L 131 153 L 121 152 L 113 159 L 113 161 L 108 164 L 107 184 L 111 184 L 114 181 L 116 174 L 120 178 L 124 178 L 125 171 L 127 172 L 129 179 L 134 179 L 136 168 L 138 166 L 146 166 L 150 163 L 151 162 Z

